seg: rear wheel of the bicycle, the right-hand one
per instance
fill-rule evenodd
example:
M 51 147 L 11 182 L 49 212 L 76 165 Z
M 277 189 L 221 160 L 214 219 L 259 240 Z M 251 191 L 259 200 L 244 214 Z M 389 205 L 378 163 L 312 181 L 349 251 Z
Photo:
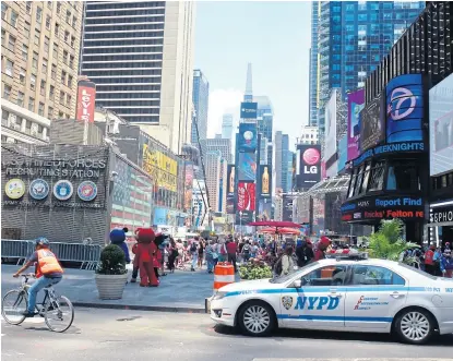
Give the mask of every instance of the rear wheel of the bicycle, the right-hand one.
M 63 333 L 72 325 L 74 321 L 74 306 L 71 301 L 60 296 L 46 302 L 44 320 L 47 327 L 56 333 Z

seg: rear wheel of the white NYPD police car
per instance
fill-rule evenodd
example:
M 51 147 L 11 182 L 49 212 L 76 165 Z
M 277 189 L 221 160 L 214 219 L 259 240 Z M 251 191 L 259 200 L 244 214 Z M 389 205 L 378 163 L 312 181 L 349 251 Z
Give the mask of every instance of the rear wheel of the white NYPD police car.
M 400 339 L 408 344 L 425 344 L 434 333 L 434 321 L 421 309 L 409 309 L 400 314 L 395 330 Z

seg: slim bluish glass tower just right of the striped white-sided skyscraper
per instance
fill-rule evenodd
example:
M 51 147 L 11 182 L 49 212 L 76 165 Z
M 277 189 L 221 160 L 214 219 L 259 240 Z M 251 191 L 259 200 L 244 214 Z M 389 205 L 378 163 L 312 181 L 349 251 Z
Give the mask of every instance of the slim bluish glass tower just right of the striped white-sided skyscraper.
M 193 71 L 193 107 L 195 117 L 192 122 L 191 143 L 198 146 L 200 140 L 207 137 L 207 108 L 210 103 L 210 83 L 201 70 Z M 196 134 L 195 122 L 199 131 Z

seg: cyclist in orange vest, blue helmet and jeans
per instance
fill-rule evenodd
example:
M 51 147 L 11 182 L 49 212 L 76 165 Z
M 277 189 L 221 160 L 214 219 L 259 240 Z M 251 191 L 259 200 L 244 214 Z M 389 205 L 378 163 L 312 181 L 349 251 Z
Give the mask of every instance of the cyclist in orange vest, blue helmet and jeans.
M 49 250 L 49 241 L 47 238 L 39 237 L 35 240 L 35 252 L 28 261 L 19 269 L 13 277 L 19 277 L 21 273 L 36 263 L 36 282 L 28 289 L 28 305 L 24 312 L 24 316 L 35 316 L 36 296 L 46 287 L 57 285 L 63 277 L 63 268 L 61 268 L 55 254 Z

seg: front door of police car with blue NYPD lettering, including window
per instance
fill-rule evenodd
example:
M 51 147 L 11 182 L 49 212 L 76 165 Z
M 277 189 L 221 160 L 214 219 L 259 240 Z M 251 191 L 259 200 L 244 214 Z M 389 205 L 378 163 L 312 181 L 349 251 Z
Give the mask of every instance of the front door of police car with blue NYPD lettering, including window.
M 344 327 L 347 265 L 322 266 L 301 276 L 301 288 L 289 285 L 282 293 L 285 327 L 338 329 Z

